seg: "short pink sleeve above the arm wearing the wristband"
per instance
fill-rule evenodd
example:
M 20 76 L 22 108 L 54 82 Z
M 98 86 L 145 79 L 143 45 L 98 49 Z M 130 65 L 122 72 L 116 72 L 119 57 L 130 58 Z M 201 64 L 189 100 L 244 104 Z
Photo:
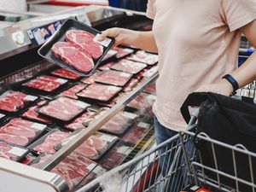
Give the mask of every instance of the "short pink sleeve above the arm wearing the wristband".
M 256 19 L 256 0 L 222 0 L 222 17 L 236 31 Z

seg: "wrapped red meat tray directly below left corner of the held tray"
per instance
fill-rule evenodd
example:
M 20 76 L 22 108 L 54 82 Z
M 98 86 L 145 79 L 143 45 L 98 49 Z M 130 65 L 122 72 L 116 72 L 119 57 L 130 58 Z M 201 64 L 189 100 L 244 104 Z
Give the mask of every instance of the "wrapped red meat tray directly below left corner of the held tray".
M 47 75 L 39 76 L 37 79 L 32 79 L 31 81 L 23 84 L 26 87 L 30 87 L 36 90 L 44 91 L 54 91 L 58 89 L 61 85 L 66 84 L 66 79 L 55 78 Z

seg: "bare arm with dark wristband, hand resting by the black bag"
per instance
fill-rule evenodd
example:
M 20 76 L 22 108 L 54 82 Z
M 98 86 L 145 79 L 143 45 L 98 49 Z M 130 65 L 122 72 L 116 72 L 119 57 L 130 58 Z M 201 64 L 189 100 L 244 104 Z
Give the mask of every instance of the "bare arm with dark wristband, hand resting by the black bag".
M 248 41 L 256 48 L 256 20 L 253 20 L 246 26 L 241 28 L 241 32 L 246 36 Z M 253 53 L 241 67 L 237 68 L 234 72 L 230 73 L 236 79 L 239 87 L 251 83 L 256 79 L 256 52 Z M 201 86 L 198 92 L 215 92 L 225 96 L 230 96 L 233 92 L 233 87 L 226 79 L 221 79 L 216 84 L 207 84 Z

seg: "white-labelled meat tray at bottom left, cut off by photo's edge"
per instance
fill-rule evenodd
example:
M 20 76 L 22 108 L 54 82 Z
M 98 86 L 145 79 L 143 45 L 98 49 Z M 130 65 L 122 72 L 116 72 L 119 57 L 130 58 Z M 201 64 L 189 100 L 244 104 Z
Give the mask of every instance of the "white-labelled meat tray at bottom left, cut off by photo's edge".
M 0 142 L 0 157 L 7 160 L 20 161 L 26 154 L 29 153 L 27 148 L 21 148 L 20 146 Z

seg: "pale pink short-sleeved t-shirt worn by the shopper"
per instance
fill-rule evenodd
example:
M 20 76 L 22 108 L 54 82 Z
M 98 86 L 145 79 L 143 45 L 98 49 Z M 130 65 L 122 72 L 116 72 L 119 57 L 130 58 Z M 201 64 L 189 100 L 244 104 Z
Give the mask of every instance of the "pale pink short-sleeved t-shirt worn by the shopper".
M 159 52 L 154 114 L 175 131 L 189 93 L 237 67 L 239 28 L 256 19 L 256 0 L 148 0 Z

